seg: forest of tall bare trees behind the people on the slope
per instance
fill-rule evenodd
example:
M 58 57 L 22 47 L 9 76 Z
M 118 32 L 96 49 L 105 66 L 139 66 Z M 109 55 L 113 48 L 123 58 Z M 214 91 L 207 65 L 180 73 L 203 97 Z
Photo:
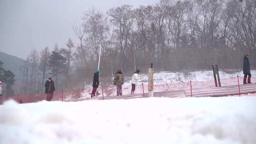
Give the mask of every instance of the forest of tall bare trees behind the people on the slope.
M 23 93 L 42 92 L 47 76 L 57 90 L 72 89 L 91 80 L 101 50 L 101 76 L 121 68 L 130 75 L 156 71 L 241 69 L 243 55 L 256 67 L 256 0 L 160 0 L 154 5 L 130 5 L 106 13 L 89 9 L 73 25 L 79 40 L 50 52 L 32 51 L 24 64 Z M 34 91 L 33 91 L 34 90 Z

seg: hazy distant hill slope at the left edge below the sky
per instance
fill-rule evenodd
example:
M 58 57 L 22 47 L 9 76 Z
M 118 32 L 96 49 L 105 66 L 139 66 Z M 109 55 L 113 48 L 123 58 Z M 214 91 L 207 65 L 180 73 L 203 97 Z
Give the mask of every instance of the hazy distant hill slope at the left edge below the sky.
M 20 72 L 20 67 L 23 65 L 25 60 L 0 52 L 0 61 L 4 63 L 3 67 L 6 70 L 10 70 L 15 74 L 16 81 L 22 81 L 23 73 Z

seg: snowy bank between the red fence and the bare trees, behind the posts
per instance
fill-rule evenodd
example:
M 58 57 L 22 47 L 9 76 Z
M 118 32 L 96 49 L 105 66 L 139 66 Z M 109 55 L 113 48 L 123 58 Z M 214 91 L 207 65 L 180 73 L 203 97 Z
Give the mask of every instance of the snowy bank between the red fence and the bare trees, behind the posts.
M 251 70 L 252 76 L 256 76 L 256 70 Z M 233 78 L 236 76 L 243 77 L 243 71 L 240 72 L 223 72 L 219 71 L 220 79 Z M 140 83 L 147 83 L 148 75 L 140 74 L 141 81 Z M 128 81 L 125 82 L 125 86 L 130 85 L 129 81 L 131 78 L 128 78 Z M 195 71 L 195 72 L 156 72 L 154 73 L 154 83 L 163 84 L 163 83 L 180 83 L 188 81 L 212 81 L 213 72 L 212 71 Z

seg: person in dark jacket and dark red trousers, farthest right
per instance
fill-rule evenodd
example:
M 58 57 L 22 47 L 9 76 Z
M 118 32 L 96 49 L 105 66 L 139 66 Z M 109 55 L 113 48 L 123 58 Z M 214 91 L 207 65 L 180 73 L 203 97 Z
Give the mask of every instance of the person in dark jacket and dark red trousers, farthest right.
M 244 55 L 244 68 L 243 72 L 245 74 L 244 76 L 244 84 L 251 83 L 251 72 L 250 72 L 250 62 L 249 62 L 249 56 L 250 54 L 245 54 Z M 248 76 L 248 80 L 247 80 Z

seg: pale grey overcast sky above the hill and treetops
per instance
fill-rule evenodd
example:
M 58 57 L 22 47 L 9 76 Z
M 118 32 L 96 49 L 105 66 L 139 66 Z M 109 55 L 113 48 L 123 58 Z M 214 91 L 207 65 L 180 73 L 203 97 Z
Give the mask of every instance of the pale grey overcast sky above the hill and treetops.
M 106 12 L 122 4 L 154 4 L 158 0 L 0 0 L 0 51 L 25 59 L 32 49 L 55 43 L 64 47 L 68 38 L 78 42 L 72 25 L 81 24 L 83 12 L 95 7 Z

